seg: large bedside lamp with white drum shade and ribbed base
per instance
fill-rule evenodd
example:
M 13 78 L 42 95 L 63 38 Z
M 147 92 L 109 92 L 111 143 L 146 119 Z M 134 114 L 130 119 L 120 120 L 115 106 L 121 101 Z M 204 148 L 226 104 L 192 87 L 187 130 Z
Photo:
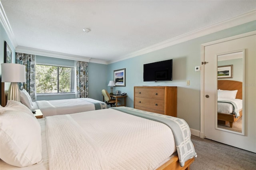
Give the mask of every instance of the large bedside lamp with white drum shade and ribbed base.
M 2 82 L 11 82 L 7 100 L 20 102 L 19 82 L 26 81 L 25 65 L 14 63 L 2 63 Z

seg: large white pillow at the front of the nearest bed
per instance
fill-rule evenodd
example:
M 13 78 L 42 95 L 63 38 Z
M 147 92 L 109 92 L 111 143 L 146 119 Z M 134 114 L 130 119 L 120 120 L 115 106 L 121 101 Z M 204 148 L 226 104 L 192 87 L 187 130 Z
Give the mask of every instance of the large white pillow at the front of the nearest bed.
M 2 109 L 2 108 L 0 108 Z M 0 158 L 18 167 L 42 162 L 41 127 L 24 112 L 0 114 Z

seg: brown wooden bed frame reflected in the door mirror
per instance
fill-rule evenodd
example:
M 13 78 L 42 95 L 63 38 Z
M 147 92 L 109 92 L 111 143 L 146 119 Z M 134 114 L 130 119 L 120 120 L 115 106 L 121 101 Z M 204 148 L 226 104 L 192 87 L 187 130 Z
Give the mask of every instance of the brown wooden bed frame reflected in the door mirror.
M 243 83 L 241 81 L 218 80 L 218 89 L 238 90 L 236 93 L 236 99 L 242 99 L 242 85 Z M 227 125 L 229 123 L 232 128 L 233 123 L 242 117 L 242 110 L 239 111 L 239 114 L 240 116 L 236 118 L 234 114 L 218 113 L 218 124 Z

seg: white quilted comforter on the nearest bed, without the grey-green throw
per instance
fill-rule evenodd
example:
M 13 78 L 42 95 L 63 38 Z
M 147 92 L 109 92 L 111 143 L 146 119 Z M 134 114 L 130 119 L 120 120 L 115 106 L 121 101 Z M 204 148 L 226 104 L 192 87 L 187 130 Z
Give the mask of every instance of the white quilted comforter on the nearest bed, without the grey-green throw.
M 46 134 L 50 170 L 154 169 L 176 151 L 169 127 L 114 109 L 46 117 Z

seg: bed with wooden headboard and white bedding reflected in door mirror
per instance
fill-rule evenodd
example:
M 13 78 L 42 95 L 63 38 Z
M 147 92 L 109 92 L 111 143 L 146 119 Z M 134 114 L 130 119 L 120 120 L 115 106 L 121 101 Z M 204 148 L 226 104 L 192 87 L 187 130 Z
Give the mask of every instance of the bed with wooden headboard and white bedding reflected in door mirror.
M 218 128 L 242 132 L 242 82 L 218 80 Z

